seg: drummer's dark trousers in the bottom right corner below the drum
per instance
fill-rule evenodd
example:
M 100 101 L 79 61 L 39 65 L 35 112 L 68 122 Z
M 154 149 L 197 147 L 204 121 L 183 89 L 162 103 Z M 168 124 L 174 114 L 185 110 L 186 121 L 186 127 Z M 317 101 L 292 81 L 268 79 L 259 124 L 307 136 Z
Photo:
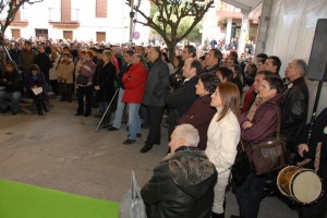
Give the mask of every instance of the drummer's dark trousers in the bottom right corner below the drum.
M 325 189 L 326 189 L 326 184 Z M 327 193 L 323 193 L 322 198 L 313 205 L 302 206 L 299 218 L 325 218 L 327 211 Z

